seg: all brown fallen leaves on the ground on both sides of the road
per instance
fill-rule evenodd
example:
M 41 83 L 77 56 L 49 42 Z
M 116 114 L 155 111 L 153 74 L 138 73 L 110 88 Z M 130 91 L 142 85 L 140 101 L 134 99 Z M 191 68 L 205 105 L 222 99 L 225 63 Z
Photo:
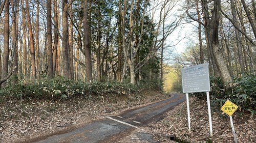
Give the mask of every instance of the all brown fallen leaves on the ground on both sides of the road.
M 89 123 L 104 116 L 118 115 L 123 110 L 144 106 L 166 98 L 156 91 L 144 91 L 142 95 L 125 97 L 106 96 L 103 99 L 84 97 L 59 101 L 8 101 L 0 108 L 0 142 L 30 142 L 34 138 L 72 129 L 73 125 Z M 213 136 L 210 137 L 206 101 L 196 97 L 189 99 L 191 131 L 187 127 L 186 103 L 165 113 L 160 121 L 143 127 L 154 135 L 156 142 L 234 142 L 229 117 L 221 110 L 211 110 Z M 234 113 L 234 129 L 238 142 L 256 142 L 256 119 L 249 112 Z M 75 126 L 76 127 L 76 126 Z M 149 142 L 134 139 L 136 133 L 119 142 Z

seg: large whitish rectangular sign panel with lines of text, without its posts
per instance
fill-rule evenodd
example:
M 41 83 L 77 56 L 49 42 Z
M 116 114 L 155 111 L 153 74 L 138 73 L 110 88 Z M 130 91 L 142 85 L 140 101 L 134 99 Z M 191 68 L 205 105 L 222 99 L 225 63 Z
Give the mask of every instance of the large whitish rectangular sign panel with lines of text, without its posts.
M 183 93 L 210 92 L 208 63 L 181 69 Z

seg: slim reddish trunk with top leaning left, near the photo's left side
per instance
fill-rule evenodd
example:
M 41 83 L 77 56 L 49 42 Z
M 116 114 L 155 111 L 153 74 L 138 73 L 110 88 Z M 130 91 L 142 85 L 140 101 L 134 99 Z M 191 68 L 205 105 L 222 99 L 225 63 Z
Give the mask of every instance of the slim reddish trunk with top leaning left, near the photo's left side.
M 29 28 L 29 41 L 30 41 L 30 55 L 31 55 L 31 70 L 32 70 L 32 79 L 36 78 L 36 67 L 35 67 L 35 48 L 34 48 L 34 37 L 31 25 L 31 19 L 29 14 L 29 2 L 26 2 L 26 13 L 28 18 L 28 28 Z

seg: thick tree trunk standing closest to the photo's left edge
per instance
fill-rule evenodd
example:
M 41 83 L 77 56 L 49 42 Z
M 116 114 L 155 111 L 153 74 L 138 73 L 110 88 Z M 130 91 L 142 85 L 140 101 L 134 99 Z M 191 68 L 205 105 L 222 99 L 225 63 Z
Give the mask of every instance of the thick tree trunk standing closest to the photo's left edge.
M 9 34 L 10 34 L 10 26 L 9 26 L 9 11 L 10 11 L 10 3 L 9 0 L 5 2 L 5 23 L 4 23 L 4 53 L 3 53 L 3 69 L 2 69 L 2 79 L 8 75 L 8 66 L 9 66 Z M 6 82 L 1 84 L 2 87 L 6 87 Z

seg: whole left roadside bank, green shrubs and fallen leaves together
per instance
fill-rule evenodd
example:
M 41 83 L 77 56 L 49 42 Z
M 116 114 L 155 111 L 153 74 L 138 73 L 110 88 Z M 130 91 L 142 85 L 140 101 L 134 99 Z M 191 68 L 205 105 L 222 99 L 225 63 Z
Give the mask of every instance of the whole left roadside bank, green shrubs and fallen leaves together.
M 10 81 L 11 82 L 11 81 Z M 0 90 L 0 142 L 28 142 L 162 100 L 157 82 L 82 82 L 57 76 Z

